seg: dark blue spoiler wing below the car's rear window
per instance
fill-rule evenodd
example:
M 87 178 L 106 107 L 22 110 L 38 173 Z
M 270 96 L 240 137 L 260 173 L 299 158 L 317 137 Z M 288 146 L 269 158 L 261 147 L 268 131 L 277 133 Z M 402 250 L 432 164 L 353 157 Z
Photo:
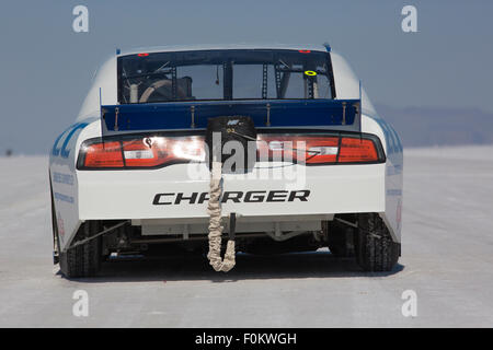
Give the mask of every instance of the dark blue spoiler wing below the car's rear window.
M 360 100 L 273 100 L 121 104 L 101 106 L 103 136 L 207 128 L 218 116 L 249 116 L 256 128 L 358 131 Z

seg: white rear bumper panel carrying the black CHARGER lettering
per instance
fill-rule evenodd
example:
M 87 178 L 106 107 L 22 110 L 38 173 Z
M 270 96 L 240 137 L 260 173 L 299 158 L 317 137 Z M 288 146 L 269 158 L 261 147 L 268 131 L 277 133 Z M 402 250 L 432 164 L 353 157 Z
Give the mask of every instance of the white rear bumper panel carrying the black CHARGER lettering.
M 290 165 L 293 180 L 285 179 L 286 168 L 271 170 L 267 178 L 262 170 L 248 178 L 223 175 L 223 194 L 229 194 L 222 215 L 236 212 L 242 221 L 257 221 L 386 211 L 386 164 Z M 77 171 L 79 219 L 206 219 L 209 182 L 193 179 L 187 172 L 186 164 L 147 171 Z

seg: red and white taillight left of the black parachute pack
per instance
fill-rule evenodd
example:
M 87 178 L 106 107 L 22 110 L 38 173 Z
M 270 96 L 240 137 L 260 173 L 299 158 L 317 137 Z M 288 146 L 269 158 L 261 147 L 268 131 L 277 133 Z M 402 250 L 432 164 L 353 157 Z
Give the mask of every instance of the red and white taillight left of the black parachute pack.
M 160 167 L 190 161 L 204 161 L 202 138 L 139 138 L 96 141 L 81 148 L 79 168 Z

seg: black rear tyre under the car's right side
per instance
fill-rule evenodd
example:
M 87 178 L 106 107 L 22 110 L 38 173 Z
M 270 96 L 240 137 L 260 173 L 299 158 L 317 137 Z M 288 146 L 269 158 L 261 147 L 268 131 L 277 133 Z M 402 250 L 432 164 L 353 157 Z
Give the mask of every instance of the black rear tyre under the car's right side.
M 376 213 L 359 214 L 355 240 L 356 260 L 365 271 L 390 271 L 400 255 L 383 220 Z

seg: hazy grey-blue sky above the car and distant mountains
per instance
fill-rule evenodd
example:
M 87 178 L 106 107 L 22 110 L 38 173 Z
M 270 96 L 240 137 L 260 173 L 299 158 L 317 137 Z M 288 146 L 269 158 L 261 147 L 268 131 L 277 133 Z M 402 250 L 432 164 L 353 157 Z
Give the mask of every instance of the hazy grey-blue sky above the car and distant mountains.
M 72 31 L 77 4 L 89 33 Z M 417 33 L 401 30 L 405 4 Z M 0 153 L 46 153 L 116 47 L 329 42 L 377 104 L 493 112 L 492 15 L 479 0 L 2 1 Z

